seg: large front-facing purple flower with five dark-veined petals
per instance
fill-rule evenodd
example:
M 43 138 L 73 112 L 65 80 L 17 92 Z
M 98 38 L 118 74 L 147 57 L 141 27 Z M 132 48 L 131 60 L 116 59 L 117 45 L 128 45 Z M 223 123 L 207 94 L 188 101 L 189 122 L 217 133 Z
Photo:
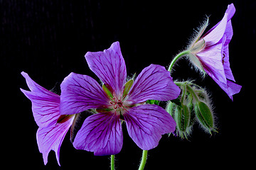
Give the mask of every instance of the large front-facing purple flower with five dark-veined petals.
M 87 52 L 85 59 L 103 85 L 86 75 L 71 73 L 60 85 L 60 114 L 75 114 L 87 109 L 97 113 L 85 119 L 73 145 L 95 155 L 117 154 L 122 149 L 122 121 L 129 136 L 142 149 L 158 145 L 161 135 L 173 132 L 174 119 L 163 108 L 147 100 L 169 101 L 180 89 L 164 67 L 151 64 L 127 81 L 126 66 L 114 42 L 103 52 Z

